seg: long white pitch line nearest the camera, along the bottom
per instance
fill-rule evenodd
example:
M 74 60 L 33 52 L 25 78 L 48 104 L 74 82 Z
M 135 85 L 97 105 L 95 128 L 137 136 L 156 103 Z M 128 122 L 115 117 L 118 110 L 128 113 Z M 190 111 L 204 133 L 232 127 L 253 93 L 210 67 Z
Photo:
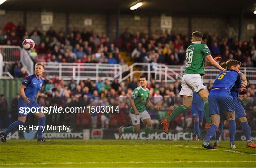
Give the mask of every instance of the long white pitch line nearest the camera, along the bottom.
M 48 164 L 62 164 L 62 165 L 70 165 L 70 164 L 133 164 L 133 163 L 256 163 L 256 161 L 247 160 L 247 161 L 229 161 L 229 160 L 202 160 L 202 161 L 153 161 L 153 162 L 143 162 L 143 161 L 129 161 L 129 162 L 44 162 L 44 163 L 2 163 L 2 166 L 8 165 L 48 165 Z

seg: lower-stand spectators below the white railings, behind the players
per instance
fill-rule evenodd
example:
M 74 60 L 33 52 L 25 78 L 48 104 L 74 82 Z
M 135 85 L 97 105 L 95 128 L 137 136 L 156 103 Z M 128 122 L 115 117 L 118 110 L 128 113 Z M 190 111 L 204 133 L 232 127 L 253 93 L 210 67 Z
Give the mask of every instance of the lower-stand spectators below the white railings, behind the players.
M 53 79 L 45 78 L 45 85 L 42 93 L 39 95 L 37 102 L 40 106 L 50 107 L 84 107 L 84 113 L 52 113 L 46 114 L 46 123 L 53 125 L 71 125 L 73 128 L 118 128 L 120 125 L 131 125 L 129 118 L 129 97 L 132 91 L 139 85 L 136 77 L 127 84 L 118 83 L 118 79 L 113 82 L 99 78 L 98 82 L 87 79 L 80 81 L 78 84 L 71 80 L 65 83 L 64 80 L 56 76 Z M 212 87 L 212 82 L 208 83 L 207 88 Z M 154 128 L 159 128 L 159 121 L 169 115 L 176 106 L 182 104 L 182 97 L 179 95 L 181 89 L 180 80 L 175 83 L 167 84 L 164 81 L 156 83 L 154 79 L 148 83 L 147 88 L 150 90 L 151 101 L 160 107 L 159 111 L 147 108 L 153 120 Z M 256 94 L 255 85 L 250 84 L 245 93 L 247 99 L 242 102 L 253 130 L 256 130 Z M 2 127 L 6 123 L 17 119 L 17 102 L 18 97 L 8 106 L 4 96 L 0 99 L 0 111 Z M 113 113 L 89 113 L 88 106 L 113 106 Z M 118 111 L 117 112 L 117 106 Z M 29 124 L 37 124 L 34 115 L 29 115 L 27 119 Z M 1 125 L 1 124 L 0 124 Z M 191 111 L 184 113 L 171 122 L 171 129 L 182 130 L 192 128 Z M 238 126 L 239 129 L 239 126 Z

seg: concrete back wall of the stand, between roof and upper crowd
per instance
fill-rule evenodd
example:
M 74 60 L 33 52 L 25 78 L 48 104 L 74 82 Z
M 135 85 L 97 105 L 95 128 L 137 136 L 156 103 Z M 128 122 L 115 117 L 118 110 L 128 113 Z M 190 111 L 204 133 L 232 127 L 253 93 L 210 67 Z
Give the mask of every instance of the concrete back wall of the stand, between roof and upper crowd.
M 5 15 L 0 15 L 0 28 L 4 27 L 7 19 L 10 18 L 15 24 L 19 21 L 23 22 L 22 11 L 6 11 Z M 136 31 L 148 31 L 148 16 L 140 15 L 140 20 L 135 20 L 134 15 L 121 15 L 119 20 L 119 33 L 121 34 L 125 28 L 129 28 L 131 32 Z M 84 19 L 91 18 L 92 25 L 84 26 Z M 111 33 L 113 38 L 116 32 L 116 16 L 111 16 Z M 176 33 L 187 34 L 188 32 L 188 18 L 187 17 L 173 17 L 172 18 L 172 30 Z M 151 32 L 154 33 L 156 30 L 160 30 L 160 16 L 151 17 Z M 223 30 L 225 29 L 225 18 L 201 18 L 192 17 L 191 26 L 192 31 L 198 30 L 202 33 L 209 32 L 210 35 L 217 34 L 219 37 L 223 36 Z M 231 18 L 230 24 L 234 27 L 238 33 L 238 18 Z M 247 30 L 247 24 L 252 23 L 256 28 L 256 19 L 243 19 L 242 26 L 242 40 L 249 40 L 254 35 L 256 30 Z M 42 29 L 41 25 L 41 12 L 27 12 L 27 30 L 30 32 L 35 26 Z M 65 13 L 53 13 L 53 25 L 56 31 L 59 31 L 61 27 L 66 28 L 66 14 Z M 73 30 L 73 27 L 79 27 L 82 30 L 86 27 L 87 30 L 94 30 L 99 35 L 103 32 L 107 32 L 107 16 L 103 14 L 69 14 L 69 29 Z

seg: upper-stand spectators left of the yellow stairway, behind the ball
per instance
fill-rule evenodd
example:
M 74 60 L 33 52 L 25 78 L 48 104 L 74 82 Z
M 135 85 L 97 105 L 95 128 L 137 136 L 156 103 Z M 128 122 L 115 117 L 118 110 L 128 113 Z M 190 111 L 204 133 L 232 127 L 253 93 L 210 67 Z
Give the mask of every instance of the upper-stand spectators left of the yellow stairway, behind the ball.
M 83 28 L 80 31 L 78 27 L 74 27 L 70 33 L 63 28 L 57 32 L 53 27 L 48 31 L 35 27 L 28 32 L 21 22 L 16 26 L 11 20 L 8 20 L 3 30 L 0 29 L 0 45 L 21 46 L 26 38 L 35 42 L 35 47 L 28 52 L 34 62 L 125 64 L 119 49 L 110 42 L 106 33 L 98 35 L 94 30 Z M 18 64 L 14 66 L 18 67 Z M 13 71 L 14 68 L 9 70 L 14 75 Z

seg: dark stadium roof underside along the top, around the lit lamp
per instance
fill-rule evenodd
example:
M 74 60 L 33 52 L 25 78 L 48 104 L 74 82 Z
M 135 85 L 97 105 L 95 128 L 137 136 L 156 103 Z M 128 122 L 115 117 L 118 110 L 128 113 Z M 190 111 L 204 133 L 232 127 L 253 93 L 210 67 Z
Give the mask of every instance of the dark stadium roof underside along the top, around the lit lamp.
M 129 7 L 139 1 L 145 5 L 130 11 Z M 59 11 L 85 13 L 116 13 L 120 7 L 121 14 L 171 14 L 171 15 L 222 15 L 255 17 L 255 0 L 7 0 L 0 9 L 26 11 Z

